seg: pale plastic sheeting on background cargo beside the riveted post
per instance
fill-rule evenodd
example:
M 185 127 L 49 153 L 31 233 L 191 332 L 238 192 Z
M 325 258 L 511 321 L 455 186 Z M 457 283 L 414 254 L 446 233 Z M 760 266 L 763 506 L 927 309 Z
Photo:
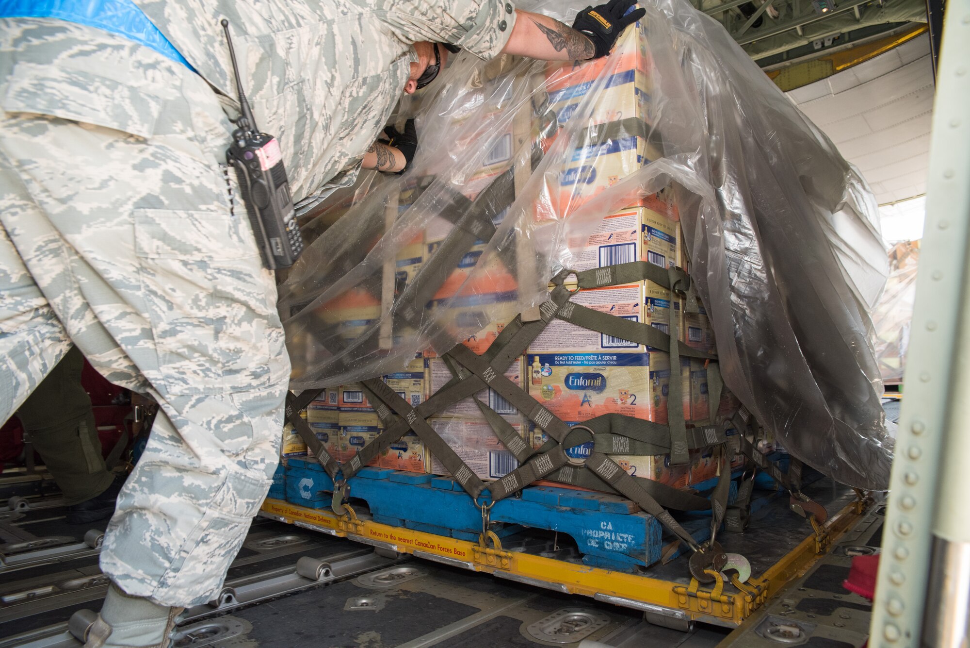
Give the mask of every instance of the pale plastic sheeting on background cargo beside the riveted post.
M 876 357 L 885 382 L 902 382 L 906 369 L 910 322 L 916 302 L 920 242 L 897 243 L 889 250 L 889 279 L 872 312 L 876 327 Z

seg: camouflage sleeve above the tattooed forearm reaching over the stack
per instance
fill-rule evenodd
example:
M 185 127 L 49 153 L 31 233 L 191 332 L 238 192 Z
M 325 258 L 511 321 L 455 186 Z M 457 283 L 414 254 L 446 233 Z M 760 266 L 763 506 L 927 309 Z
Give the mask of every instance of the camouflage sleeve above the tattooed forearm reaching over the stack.
M 450 43 L 484 59 L 499 55 L 515 26 L 511 0 L 388 0 L 379 15 L 403 41 Z

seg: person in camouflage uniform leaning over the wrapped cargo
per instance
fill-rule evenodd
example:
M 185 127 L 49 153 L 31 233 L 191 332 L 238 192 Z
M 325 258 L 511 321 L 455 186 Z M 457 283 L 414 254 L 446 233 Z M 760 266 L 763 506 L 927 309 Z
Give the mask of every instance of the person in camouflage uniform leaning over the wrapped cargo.
M 219 19 L 305 203 L 353 182 L 428 65 L 413 43 L 568 60 L 608 52 L 623 24 L 584 37 L 508 0 L 136 0 L 189 67 L 89 26 L 131 0 L 79 3 L 109 6 L 101 22 L 23 17 L 48 4 L 63 6 L 0 18 L 0 420 L 72 343 L 158 402 L 87 645 L 165 645 L 178 606 L 218 592 L 266 495 L 290 368 L 225 166 L 239 106 Z

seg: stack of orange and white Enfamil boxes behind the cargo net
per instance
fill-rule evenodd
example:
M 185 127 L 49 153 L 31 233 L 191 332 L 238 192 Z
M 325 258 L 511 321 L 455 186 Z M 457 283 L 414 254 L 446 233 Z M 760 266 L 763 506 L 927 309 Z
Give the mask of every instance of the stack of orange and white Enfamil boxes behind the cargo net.
M 538 225 L 566 217 L 620 179 L 662 156 L 652 138 L 650 125 L 652 62 L 646 48 L 646 30 L 644 20 L 628 29 L 616 46 L 617 54 L 608 59 L 583 65 L 556 63 L 548 66 L 545 75 L 548 106 L 556 113 L 559 123 L 565 124 L 579 110 L 591 111 L 591 116 L 584 122 L 589 127 L 582 131 L 580 141 L 575 142 L 574 149 L 566 155 L 557 190 L 544 194 L 541 205 L 536 206 L 534 217 Z M 609 74 L 604 75 L 607 66 Z M 583 101 L 590 93 L 595 94 L 595 101 L 592 105 L 584 105 Z M 494 102 L 501 100 L 484 90 L 482 95 L 492 96 Z M 537 137 L 536 123 L 533 121 L 531 126 L 533 138 Z M 470 197 L 508 168 L 515 148 L 512 126 L 510 120 L 509 123 L 502 122 L 498 139 L 494 137 L 495 133 L 488 132 L 489 141 L 494 145 L 485 155 L 482 168 L 469 175 L 463 191 L 471 191 Z M 470 133 L 473 129 L 466 130 Z M 495 216 L 497 225 L 503 216 L 503 212 Z M 413 281 L 451 227 L 444 219 L 434 216 L 420 236 L 399 250 L 395 263 L 396 292 L 400 293 Z M 582 271 L 640 260 L 662 268 L 671 265 L 687 267 L 678 213 L 667 192 L 636 200 L 628 209 L 603 216 L 593 230 L 585 241 L 569 242 L 574 256 L 572 269 Z M 514 304 L 518 299 L 514 276 L 498 263 L 496 268 L 477 275 L 486 284 L 470 286 L 469 290 L 466 280 L 485 245 L 485 242 L 475 243 L 426 305 L 432 315 L 436 308 L 446 306 L 448 318 L 457 330 L 483 327 L 465 340 L 465 344 L 478 354 L 489 347 L 505 324 L 504 321 L 490 321 L 489 313 L 496 312 L 497 304 Z M 466 291 L 457 295 L 462 286 Z M 348 293 L 344 299 L 347 304 L 341 305 L 339 326 L 345 337 L 359 335 L 364 327 L 379 318 L 380 304 L 376 298 Z M 708 352 L 715 350 L 706 312 L 701 309 L 699 313 L 685 313 L 680 298 L 671 298 L 668 289 L 652 281 L 585 289 L 576 293 L 572 301 L 617 317 L 644 322 L 664 333 L 670 333 L 671 325 L 676 324 L 678 337 L 684 343 Z M 683 402 L 677 406 L 683 408 L 684 417 L 688 421 L 708 419 L 712 404 L 708 402 L 704 362 L 682 358 L 681 367 L 675 369 L 674 374 L 682 381 L 683 394 Z M 609 412 L 665 423 L 667 408 L 672 406 L 667 403 L 671 379 L 668 353 L 562 320 L 553 320 L 533 340 L 526 355 L 511 364 L 505 375 L 525 387 L 537 401 L 569 424 L 581 424 Z M 404 372 L 384 376 L 384 379 L 410 405 L 419 405 L 452 377 L 443 359 L 436 357 L 434 352 L 426 352 L 424 357 L 415 358 Z M 547 440 L 541 430 L 492 390 L 483 390 L 476 398 L 498 412 L 533 447 L 539 447 Z M 727 412 L 736 406 L 731 399 L 726 394 L 722 402 L 714 406 Z M 365 393 L 354 385 L 328 391 L 325 402 L 310 405 L 308 420 L 319 430 L 318 436 L 339 462 L 348 461 L 381 430 L 380 421 Z M 452 405 L 429 422 L 482 479 L 500 478 L 517 466 L 515 458 L 501 446 L 473 400 Z M 338 434 L 335 435 L 334 430 Z M 736 442 L 731 444 L 732 454 L 736 453 L 737 446 Z M 589 451 L 589 447 L 580 447 L 573 452 L 583 455 Z M 708 481 L 717 470 L 710 449 L 692 452 L 686 466 L 671 467 L 665 456 L 617 456 L 614 459 L 632 475 L 676 487 Z M 733 462 L 738 465 L 739 459 L 734 457 Z M 376 460 L 376 465 L 395 470 L 445 473 L 413 433 L 392 445 L 390 451 Z

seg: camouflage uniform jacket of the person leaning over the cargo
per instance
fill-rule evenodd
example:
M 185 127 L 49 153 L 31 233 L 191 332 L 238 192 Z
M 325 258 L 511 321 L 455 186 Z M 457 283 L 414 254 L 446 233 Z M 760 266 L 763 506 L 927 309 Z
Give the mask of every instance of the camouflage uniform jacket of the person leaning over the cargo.
M 352 184 L 404 91 L 412 43 L 499 54 L 509 0 L 136 0 L 200 75 L 236 97 L 229 20 L 260 130 L 283 151 L 297 201 Z

